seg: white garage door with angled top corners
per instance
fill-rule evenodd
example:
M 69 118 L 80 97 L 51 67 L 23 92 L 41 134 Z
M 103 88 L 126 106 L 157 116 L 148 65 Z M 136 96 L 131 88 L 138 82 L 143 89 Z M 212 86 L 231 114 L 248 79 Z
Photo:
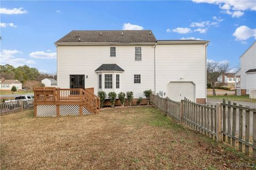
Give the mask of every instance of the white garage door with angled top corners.
M 170 82 L 167 85 L 167 96 L 174 101 L 180 101 L 184 97 L 195 101 L 195 84 L 193 82 Z

